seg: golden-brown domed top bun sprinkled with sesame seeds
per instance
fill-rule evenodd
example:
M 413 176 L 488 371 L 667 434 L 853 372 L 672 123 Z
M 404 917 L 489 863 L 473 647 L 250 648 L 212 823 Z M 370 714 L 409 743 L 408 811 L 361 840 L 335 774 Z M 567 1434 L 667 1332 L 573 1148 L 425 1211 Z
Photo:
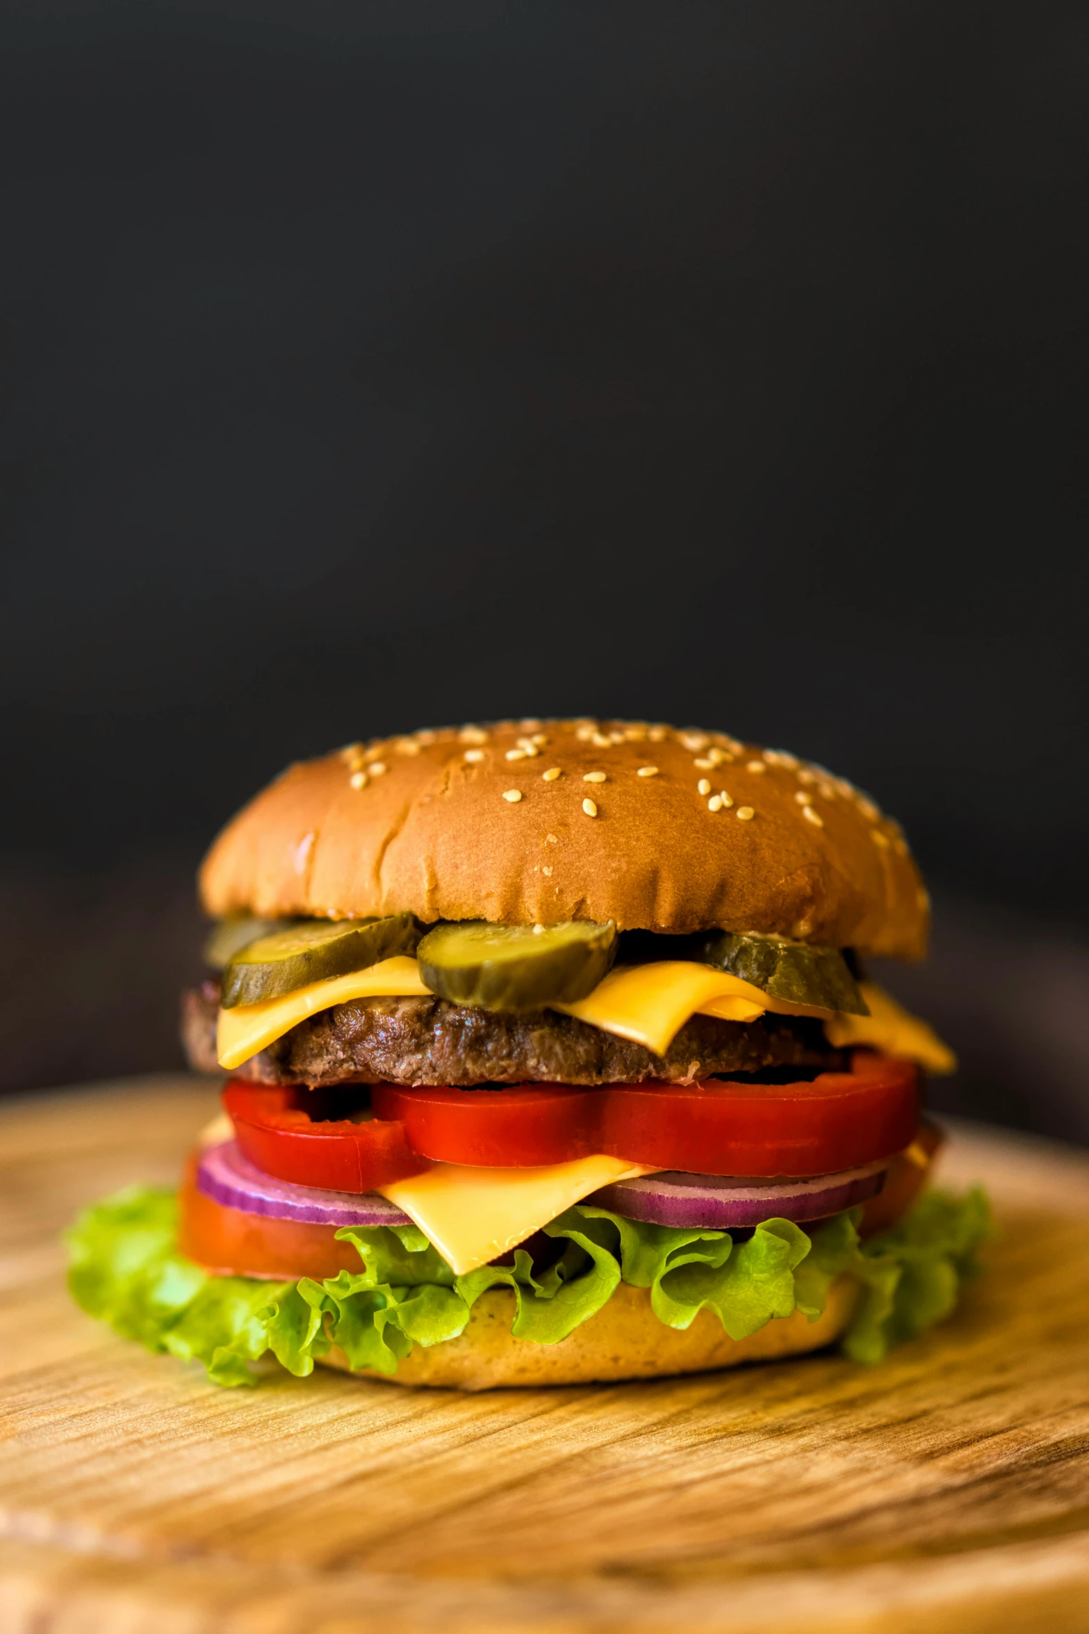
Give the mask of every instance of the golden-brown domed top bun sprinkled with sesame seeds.
M 927 933 L 898 825 L 849 783 L 720 732 L 612 721 L 416 732 L 289 766 L 219 835 L 201 895 L 217 917 L 616 920 L 906 959 Z

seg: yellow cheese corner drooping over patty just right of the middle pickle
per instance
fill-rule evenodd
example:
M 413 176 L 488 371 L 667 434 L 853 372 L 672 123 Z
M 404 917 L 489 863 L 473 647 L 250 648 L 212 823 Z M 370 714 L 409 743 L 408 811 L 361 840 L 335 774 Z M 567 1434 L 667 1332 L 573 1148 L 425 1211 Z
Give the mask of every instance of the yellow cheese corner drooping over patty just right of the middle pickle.
M 609 971 L 588 998 L 552 1008 L 661 1056 L 697 1010 L 725 1021 L 754 1021 L 767 1007 L 767 993 L 740 975 L 665 959 Z

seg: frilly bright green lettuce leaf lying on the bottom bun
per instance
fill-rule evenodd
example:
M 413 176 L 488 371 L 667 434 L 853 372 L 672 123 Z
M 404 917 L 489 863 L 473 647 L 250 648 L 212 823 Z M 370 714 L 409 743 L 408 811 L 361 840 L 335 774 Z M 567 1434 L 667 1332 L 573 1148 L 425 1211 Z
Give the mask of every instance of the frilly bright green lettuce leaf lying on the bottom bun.
M 859 1211 L 808 1234 L 769 1219 L 741 1240 L 722 1230 L 645 1226 L 576 1204 L 545 1227 L 565 1240 L 536 1273 L 524 1248 L 514 1265 L 456 1276 L 415 1226 L 344 1227 L 359 1271 L 313 1281 L 211 1276 L 175 1245 L 176 1199 L 131 1188 L 87 1209 L 69 1232 L 69 1284 L 90 1315 L 149 1350 L 201 1361 L 216 1384 L 255 1384 L 253 1363 L 271 1355 L 305 1377 L 338 1345 L 353 1369 L 392 1374 L 413 1345 L 441 1345 L 465 1330 L 490 1288 L 514 1294 L 511 1332 L 555 1345 L 612 1297 L 624 1281 L 650 1289 L 655 1315 L 686 1328 L 712 1310 L 731 1338 L 800 1310 L 815 1322 L 831 1283 L 851 1275 L 860 1297 L 842 1338 L 856 1361 L 880 1361 L 953 1309 L 989 1234 L 983 1193 L 926 1193 L 888 1232 L 860 1242 Z

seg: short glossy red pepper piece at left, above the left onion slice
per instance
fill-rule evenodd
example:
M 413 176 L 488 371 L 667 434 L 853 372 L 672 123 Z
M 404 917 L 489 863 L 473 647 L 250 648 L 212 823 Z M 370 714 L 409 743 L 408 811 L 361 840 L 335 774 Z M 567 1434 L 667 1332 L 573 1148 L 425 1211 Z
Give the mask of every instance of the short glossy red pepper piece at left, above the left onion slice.
M 312 1119 L 305 1106 L 307 1098 L 313 1103 L 313 1093 L 299 1085 L 233 1078 L 222 1098 L 245 1157 L 278 1180 L 327 1191 L 374 1191 L 428 1167 L 395 1121 Z

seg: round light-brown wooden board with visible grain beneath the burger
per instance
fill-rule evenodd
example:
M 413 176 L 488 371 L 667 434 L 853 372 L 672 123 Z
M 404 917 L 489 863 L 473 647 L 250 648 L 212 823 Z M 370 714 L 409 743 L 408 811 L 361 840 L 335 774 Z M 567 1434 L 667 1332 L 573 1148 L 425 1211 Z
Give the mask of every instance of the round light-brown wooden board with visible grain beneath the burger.
M 212 1108 L 162 1077 L 0 1108 L 2 1634 L 1089 1629 L 1089 1157 L 955 1131 L 1001 1235 L 882 1368 L 220 1391 L 77 1310 L 57 1245 Z

